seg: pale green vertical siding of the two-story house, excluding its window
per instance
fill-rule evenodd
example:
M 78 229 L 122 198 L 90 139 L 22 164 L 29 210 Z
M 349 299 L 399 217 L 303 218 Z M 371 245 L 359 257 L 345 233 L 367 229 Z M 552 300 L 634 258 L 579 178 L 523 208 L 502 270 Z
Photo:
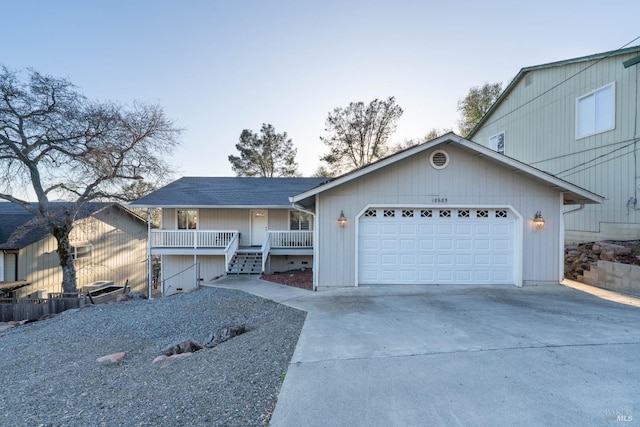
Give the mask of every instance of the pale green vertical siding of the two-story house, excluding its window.
M 640 211 L 627 209 L 629 198 L 639 196 L 633 141 L 640 132 L 640 72 L 622 66 L 634 55 L 530 71 L 531 84 L 517 83 L 472 138 L 489 146 L 489 138 L 504 130 L 506 155 L 608 199 L 567 216 L 569 240 L 640 238 L 639 227 L 631 234 L 628 227 L 640 223 Z M 615 129 L 576 140 L 576 99 L 612 82 Z

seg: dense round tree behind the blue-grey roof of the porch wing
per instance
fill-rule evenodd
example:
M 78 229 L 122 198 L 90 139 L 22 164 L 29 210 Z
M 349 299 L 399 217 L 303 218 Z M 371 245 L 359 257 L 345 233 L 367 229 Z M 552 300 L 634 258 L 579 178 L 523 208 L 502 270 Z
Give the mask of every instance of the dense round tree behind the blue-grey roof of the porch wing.
M 270 124 L 263 124 L 260 134 L 245 129 L 236 144 L 240 156 L 229 156 L 237 176 L 282 177 L 298 176 L 297 149 L 287 133 L 276 133 Z

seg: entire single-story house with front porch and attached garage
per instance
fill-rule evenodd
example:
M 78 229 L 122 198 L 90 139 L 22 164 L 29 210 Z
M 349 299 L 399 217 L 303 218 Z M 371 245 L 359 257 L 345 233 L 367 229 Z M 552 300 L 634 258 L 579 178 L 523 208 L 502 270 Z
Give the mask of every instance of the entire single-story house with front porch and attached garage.
M 131 206 L 162 208 L 171 293 L 305 267 L 314 288 L 558 283 L 565 205 L 603 201 L 448 133 L 334 179 L 181 178 Z

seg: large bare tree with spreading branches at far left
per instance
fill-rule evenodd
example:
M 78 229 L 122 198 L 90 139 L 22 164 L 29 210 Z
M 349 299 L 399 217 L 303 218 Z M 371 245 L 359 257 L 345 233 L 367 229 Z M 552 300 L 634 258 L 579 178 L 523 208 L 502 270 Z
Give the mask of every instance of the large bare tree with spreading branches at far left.
M 0 199 L 24 207 L 55 237 L 64 292 L 76 290 L 69 234 L 78 212 L 123 199 L 131 181 L 162 176 L 161 156 L 179 135 L 159 106 L 93 102 L 68 79 L 0 68 Z M 52 198 L 71 203 L 54 209 Z

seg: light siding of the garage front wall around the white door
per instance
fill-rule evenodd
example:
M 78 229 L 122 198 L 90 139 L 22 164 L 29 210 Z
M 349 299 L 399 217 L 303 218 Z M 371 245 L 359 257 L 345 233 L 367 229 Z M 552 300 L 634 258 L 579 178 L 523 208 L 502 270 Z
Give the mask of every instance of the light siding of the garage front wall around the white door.
M 453 146 L 444 149 L 451 160 L 443 170 L 433 169 L 429 165 L 430 152 L 422 152 L 319 195 L 318 286 L 355 285 L 358 216 L 369 205 L 403 204 L 512 206 L 524 218 L 524 283 L 558 282 L 561 275 L 558 192 L 486 158 Z M 438 198 L 446 202 L 434 202 Z M 546 226 L 540 231 L 533 230 L 531 224 L 538 210 L 546 219 Z M 344 228 L 337 223 L 340 211 L 348 219 Z

